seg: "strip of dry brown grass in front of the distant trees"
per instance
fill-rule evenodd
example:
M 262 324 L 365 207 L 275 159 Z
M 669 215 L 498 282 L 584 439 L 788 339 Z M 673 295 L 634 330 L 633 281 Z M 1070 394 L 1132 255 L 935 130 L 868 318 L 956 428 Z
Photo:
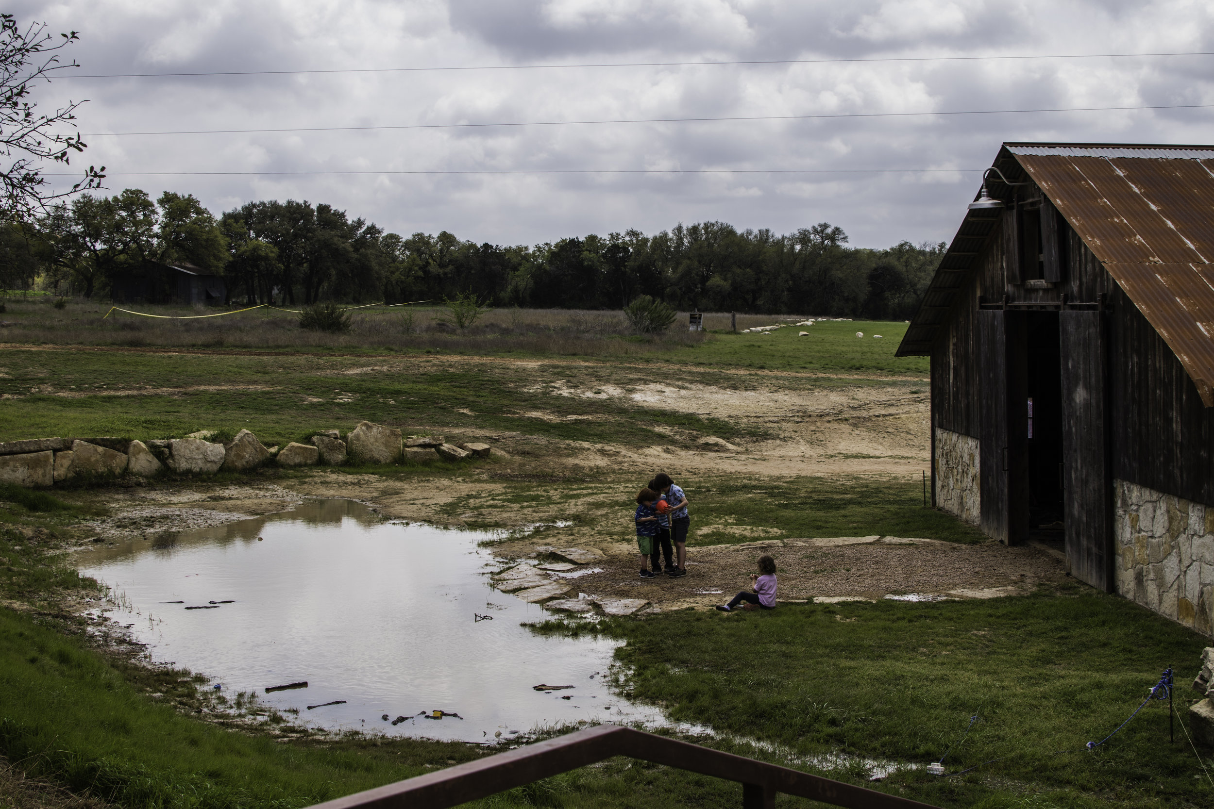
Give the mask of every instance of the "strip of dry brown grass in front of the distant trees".
M 79 346 L 194 347 L 194 348 L 382 348 L 442 349 L 497 353 L 516 351 L 540 354 L 635 355 L 654 348 L 697 344 L 705 334 L 690 332 L 687 313 L 666 332 L 637 337 L 619 311 L 520 309 L 487 312 L 463 331 L 442 323 L 438 307 L 395 307 L 356 309 L 348 332 L 328 334 L 299 327 L 299 315 L 257 309 L 223 317 L 215 308 L 171 306 L 124 306 L 123 308 L 163 319 L 109 312 L 109 304 L 74 302 L 56 309 L 46 301 L 10 301 L 2 315 L 0 340 L 12 343 Z M 738 329 L 799 318 L 783 315 L 737 315 Z M 704 327 L 727 331 L 728 313 L 707 313 Z

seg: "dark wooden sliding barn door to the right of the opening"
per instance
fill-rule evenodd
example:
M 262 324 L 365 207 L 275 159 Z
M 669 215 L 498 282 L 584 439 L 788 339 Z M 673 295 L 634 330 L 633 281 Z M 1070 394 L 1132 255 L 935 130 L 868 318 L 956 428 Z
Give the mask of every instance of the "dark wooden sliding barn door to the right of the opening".
M 1061 313 L 1062 485 L 1071 575 L 1113 589 L 1112 478 L 1100 312 Z

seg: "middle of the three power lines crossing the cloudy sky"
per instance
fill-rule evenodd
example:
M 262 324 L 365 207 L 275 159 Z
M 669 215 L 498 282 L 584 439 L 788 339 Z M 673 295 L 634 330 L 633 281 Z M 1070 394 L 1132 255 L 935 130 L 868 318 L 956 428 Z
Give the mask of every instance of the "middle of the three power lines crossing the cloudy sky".
M 395 124 L 386 126 L 288 126 L 262 130 L 166 130 L 155 132 L 85 132 L 81 137 L 132 135 L 253 135 L 273 132 L 359 132 L 375 130 L 442 130 L 489 126 L 586 126 L 602 124 L 703 124 L 722 121 L 800 121 L 834 118 L 912 118 L 924 115 L 1025 115 L 1032 113 L 1107 113 L 1142 109 L 1209 109 L 1214 104 L 1156 104 L 1144 107 L 1062 107 L 1048 109 L 972 109 L 929 113 L 822 113 L 815 115 L 731 115 L 720 118 L 618 118 L 585 121 L 498 121 L 493 124 Z

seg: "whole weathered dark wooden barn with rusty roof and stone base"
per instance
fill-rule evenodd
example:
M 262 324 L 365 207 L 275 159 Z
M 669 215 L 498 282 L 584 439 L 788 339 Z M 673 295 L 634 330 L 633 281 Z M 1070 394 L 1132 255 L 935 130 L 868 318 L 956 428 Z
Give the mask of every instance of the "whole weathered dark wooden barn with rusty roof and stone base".
M 1214 634 L 1214 147 L 1004 143 L 898 355 L 932 501 Z

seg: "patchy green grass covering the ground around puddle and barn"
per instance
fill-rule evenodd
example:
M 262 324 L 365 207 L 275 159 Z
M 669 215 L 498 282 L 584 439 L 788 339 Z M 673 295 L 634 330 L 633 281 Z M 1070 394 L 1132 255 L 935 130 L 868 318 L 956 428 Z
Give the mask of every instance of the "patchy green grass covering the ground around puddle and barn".
M 609 313 L 528 314 L 522 325 L 512 313 L 497 313 L 477 335 L 385 327 L 376 336 L 368 326 L 330 338 L 300 335 L 289 321 L 251 324 L 243 336 L 239 330 L 223 336 L 211 326 L 98 327 L 90 318 L 100 314 L 76 304 L 57 329 L 59 315 L 51 307 L 32 303 L 24 314 L 21 308 L 10 306 L 5 317 L 41 320 L 6 332 L 24 347 L 10 346 L 0 357 L 0 440 L 163 438 L 203 428 L 232 434 L 246 427 L 267 443 L 283 443 L 322 428 L 348 429 L 365 418 L 416 432 L 499 431 L 631 448 L 670 443 L 671 435 L 685 444 L 717 435 L 748 446 L 776 437 L 778 416 L 719 418 L 596 392 L 665 384 L 816 397 L 879 387 L 895 399 L 926 388 L 924 358 L 894 358 L 904 324 L 819 321 L 760 336 L 721 334 L 720 318 L 727 315 L 711 315 L 713 332 L 704 340 L 646 342 L 595 326 Z M 739 318 L 739 326 L 775 321 Z M 800 337 L 801 330 L 811 334 Z M 866 336 L 857 338 L 856 331 Z M 63 344 L 73 341 L 91 348 Z M 557 386 L 590 395 L 555 395 Z M 466 524 L 494 528 L 503 503 L 526 506 L 528 519 L 563 512 L 574 522 L 571 531 L 618 530 L 623 537 L 622 506 L 602 494 L 624 491 L 635 475 L 611 468 L 590 474 L 580 467 L 573 474 L 562 466 L 566 451 L 541 449 L 475 467 L 433 462 L 348 472 L 436 486 L 483 475 L 493 482 L 492 491 L 461 497 L 441 515 L 470 514 Z M 279 475 L 290 485 L 306 474 L 266 471 L 257 479 Z M 226 475 L 221 483 L 240 480 Z M 789 536 L 982 541 L 974 529 L 924 508 L 921 482 L 909 475 L 709 468 L 680 482 L 696 492 L 699 525 L 764 525 Z M 92 650 L 83 621 L 57 604 L 64 594 L 95 592 L 95 585 L 55 556 L 55 541 L 25 535 L 39 528 L 63 534 L 98 515 L 103 507 L 96 503 L 103 500 L 84 489 L 0 489 L 0 597 L 29 605 L 25 613 L 0 608 L 0 753 L 11 762 L 123 809 L 295 809 L 481 754 L 421 741 L 282 744 L 226 730 L 191 716 L 193 685 L 178 682 L 187 673 L 158 672 Z M 710 532 L 692 543 L 747 539 Z M 1178 671 L 1176 710 L 1184 714 L 1190 697 L 1184 683 L 1209 643 L 1079 585 L 987 602 L 785 605 L 730 616 L 677 611 L 537 631 L 594 631 L 624 640 L 622 688 L 676 719 L 710 725 L 720 735 L 702 741 L 721 750 L 811 770 L 816 764 L 806 757 L 830 752 L 923 765 L 951 744 L 946 764 L 954 771 L 1000 759 L 959 777 L 913 770 L 878 785 L 941 807 L 1196 809 L 1214 803 L 1214 788 L 1179 727 L 1178 742 L 1167 742 L 1159 702 L 1096 752 L 1070 752 L 1125 719 L 1169 665 Z M 978 719 L 958 744 L 974 716 Z M 1203 754 L 1209 758 L 1209 751 Z M 832 776 L 862 782 L 864 773 L 857 764 Z M 484 803 L 724 808 L 739 801 L 736 785 L 614 759 Z M 807 804 L 781 798 L 778 805 Z M 10 809 L 4 796 L 0 809 Z

